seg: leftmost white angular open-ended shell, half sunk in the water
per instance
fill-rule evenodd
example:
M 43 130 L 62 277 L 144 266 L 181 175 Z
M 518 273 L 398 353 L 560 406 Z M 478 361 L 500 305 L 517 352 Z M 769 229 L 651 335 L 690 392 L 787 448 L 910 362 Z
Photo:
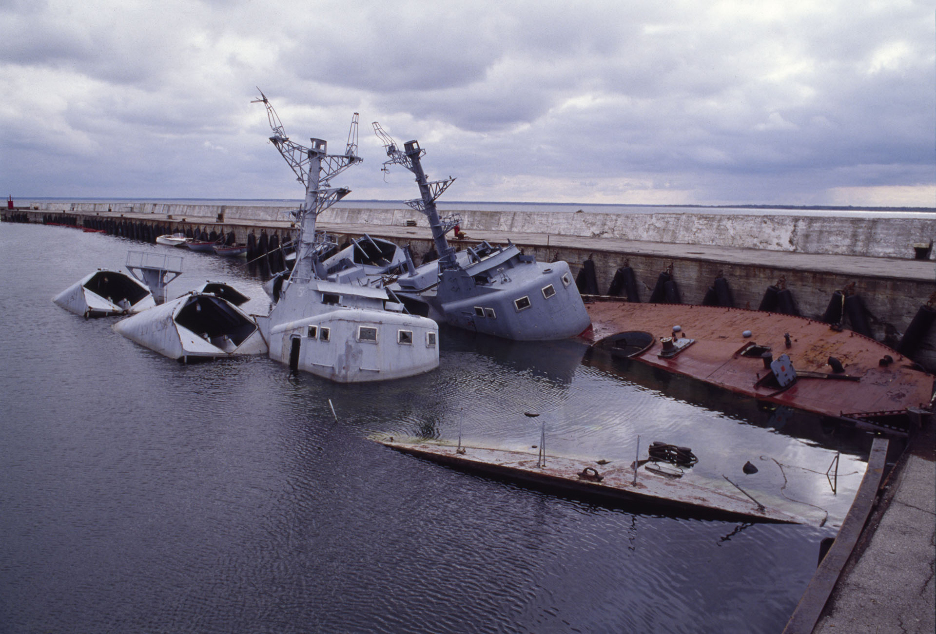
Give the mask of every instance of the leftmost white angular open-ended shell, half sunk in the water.
M 85 319 L 125 315 L 156 305 L 147 286 L 125 273 L 104 268 L 81 278 L 52 301 Z

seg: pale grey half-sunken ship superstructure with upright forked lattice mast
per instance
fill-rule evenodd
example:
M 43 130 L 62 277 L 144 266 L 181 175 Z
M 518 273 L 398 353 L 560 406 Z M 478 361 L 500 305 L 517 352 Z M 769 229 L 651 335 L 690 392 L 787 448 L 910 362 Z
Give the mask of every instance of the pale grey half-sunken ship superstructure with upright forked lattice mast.
M 329 187 L 329 180 L 361 160 L 356 154 L 358 114 L 352 119 L 344 154 L 330 155 L 322 139 L 311 139 L 311 148 L 290 141 L 270 102 L 260 96 L 273 129 L 270 140 L 306 188 L 305 201 L 295 212 L 300 227 L 296 263 L 288 278 L 277 277 L 268 291 L 276 302 L 270 314 L 256 317 L 271 359 L 287 364 L 291 371 L 335 382 L 399 379 L 438 367 L 438 325 L 409 314 L 388 289 L 371 288 L 358 280 L 367 272 L 360 269 L 366 263 L 355 262 L 356 256 L 386 267 L 390 258 L 385 255 L 392 258 L 391 252 L 384 253 L 373 240 L 358 241 L 348 248 L 350 252 L 327 261 L 335 267 L 333 275 L 347 272 L 341 281 L 328 279 L 322 256 L 335 244 L 316 238 L 315 219 L 350 191 Z M 357 283 L 349 283 L 352 279 Z

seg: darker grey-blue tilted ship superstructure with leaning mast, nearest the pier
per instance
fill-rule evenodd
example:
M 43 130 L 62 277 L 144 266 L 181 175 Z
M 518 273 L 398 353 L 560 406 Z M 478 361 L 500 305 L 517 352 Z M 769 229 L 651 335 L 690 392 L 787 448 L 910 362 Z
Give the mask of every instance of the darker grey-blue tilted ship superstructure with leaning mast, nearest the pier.
M 438 260 L 407 271 L 389 285 L 414 312 L 438 322 L 503 337 L 549 340 L 575 337 L 591 325 L 581 295 L 565 262 L 539 263 L 513 243 L 456 252 L 446 233 L 460 222 L 457 214 L 442 219 L 435 200 L 454 179 L 429 181 L 418 141 L 402 149 L 377 122 L 374 132 L 387 151 L 390 165 L 401 165 L 416 176 L 420 197 L 406 204 L 429 219 Z

